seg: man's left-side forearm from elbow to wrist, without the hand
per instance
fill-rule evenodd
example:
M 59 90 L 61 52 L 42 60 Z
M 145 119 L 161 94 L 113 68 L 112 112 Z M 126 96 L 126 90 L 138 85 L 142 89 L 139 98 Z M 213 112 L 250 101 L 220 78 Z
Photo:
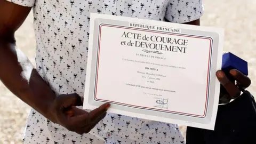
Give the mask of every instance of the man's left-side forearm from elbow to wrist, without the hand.
M 0 39 L 0 79 L 13 94 L 54 121 L 48 110 L 55 99 L 54 92 L 26 55 L 6 39 Z

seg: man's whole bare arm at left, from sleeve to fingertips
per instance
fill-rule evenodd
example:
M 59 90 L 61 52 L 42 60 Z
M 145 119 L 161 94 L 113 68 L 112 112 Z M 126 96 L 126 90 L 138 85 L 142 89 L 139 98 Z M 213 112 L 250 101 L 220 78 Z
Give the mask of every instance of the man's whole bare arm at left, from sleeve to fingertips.
M 106 116 L 109 103 L 88 113 L 78 94 L 58 97 L 37 73 L 31 62 L 15 46 L 15 31 L 22 25 L 31 7 L 0 0 L 0 79 L 22 101 L 54 123 L 78 134 L 88 133 Z

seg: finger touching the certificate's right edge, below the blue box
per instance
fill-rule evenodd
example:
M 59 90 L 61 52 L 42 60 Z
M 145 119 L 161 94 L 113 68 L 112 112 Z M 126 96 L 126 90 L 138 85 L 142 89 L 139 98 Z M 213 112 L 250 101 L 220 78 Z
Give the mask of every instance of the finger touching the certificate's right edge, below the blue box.
M 238 89 L 238 87 L 234 83 L 229 81 L 229 79 L 227 78 L 225 73 L 223 73 L 223 71 L 217 71 L 217 78 L 219 79 L 223 87 L 225 87 L 230 97 L 236 98 L 241 94 L 241 91 Z

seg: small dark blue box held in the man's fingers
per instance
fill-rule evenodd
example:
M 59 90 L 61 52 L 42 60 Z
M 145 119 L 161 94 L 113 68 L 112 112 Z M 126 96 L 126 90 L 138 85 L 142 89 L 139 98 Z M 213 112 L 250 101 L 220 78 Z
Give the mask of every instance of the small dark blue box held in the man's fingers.
M 244 75 L 248 75 L 247 61 L 237 57 L 235 54 L 228 52 L 222 55 L 222 67 L 221 69 L 227 73 L 231 69 L 237 69 Z

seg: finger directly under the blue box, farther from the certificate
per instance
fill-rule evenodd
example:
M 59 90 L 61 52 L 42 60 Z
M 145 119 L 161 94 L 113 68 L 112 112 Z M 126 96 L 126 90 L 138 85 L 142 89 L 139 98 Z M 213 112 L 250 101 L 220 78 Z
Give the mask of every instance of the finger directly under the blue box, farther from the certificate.
M 237 69 L 231 69 L 229 73 L 236 79 L 240 86 L 243 88 L 249 87 L 251 85 L 251 79 L 245 76 L 241 71 Z

